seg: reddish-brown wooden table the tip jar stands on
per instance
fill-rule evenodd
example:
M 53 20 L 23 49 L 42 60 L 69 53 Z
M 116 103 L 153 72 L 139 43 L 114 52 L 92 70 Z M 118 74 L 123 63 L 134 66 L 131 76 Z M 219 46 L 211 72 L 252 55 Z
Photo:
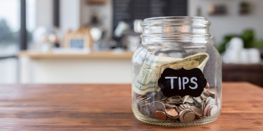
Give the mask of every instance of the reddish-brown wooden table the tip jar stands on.
M 263 88 L 223 83 L 223 108 L 210 124 L 166 127 L 131 111 L 130 84 L 0 86 L 2 130 L 263 130 Z

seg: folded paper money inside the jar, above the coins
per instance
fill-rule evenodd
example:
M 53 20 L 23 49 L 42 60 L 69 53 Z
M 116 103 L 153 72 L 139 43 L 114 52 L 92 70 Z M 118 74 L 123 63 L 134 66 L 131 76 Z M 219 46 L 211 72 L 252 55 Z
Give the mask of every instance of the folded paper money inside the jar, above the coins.
M 160 89 L 157 81 L 164 69 L 180 69 L 183 67 L 187 70 L 199 68 L 203 71 L 206 62 L 209 59 L 209 54 L 207 53 L 197 53 L 184 59 L 155 56 L 153 55 L 154 53 L 155 52 L 148 52 L 143 62 L 139 77 L 135 83 L 133 90 L 140 95 Z

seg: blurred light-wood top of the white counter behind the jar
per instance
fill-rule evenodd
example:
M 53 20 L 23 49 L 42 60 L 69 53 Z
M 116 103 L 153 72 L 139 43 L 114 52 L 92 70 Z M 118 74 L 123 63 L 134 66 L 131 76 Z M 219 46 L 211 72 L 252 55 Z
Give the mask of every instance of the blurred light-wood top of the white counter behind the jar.
M 28 56 L 32 59 L 37 58 L 129 58 L 131 59 L 133 52 L 114 52 L 114 51 L 101 51 L 90 52 L 89 54 L 54 54 L 54 53 L 41 53 L 41 52 L 28 52 L 22 51 L 18 53 L 20 56 Z

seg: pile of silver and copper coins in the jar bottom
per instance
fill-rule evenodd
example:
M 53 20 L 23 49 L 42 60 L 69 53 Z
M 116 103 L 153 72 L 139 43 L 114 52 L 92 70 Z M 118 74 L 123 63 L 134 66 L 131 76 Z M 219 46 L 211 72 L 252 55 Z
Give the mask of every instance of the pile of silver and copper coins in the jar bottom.
M 165 97 L 161 91 L 135 94 L 139 112 L 160 121 L 189 123 L 214 116 L 217 111 L 217 97 L 207 87 L 199 97 Z

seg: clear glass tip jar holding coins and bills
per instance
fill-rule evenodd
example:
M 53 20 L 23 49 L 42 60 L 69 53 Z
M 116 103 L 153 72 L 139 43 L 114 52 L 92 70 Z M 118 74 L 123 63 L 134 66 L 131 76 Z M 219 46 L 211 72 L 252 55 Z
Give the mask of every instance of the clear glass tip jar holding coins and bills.
M 204 17 L 155 17 L 132 57 L 132 110 L 140 121 L 204 125 L 222 108 L 222 61 Z

